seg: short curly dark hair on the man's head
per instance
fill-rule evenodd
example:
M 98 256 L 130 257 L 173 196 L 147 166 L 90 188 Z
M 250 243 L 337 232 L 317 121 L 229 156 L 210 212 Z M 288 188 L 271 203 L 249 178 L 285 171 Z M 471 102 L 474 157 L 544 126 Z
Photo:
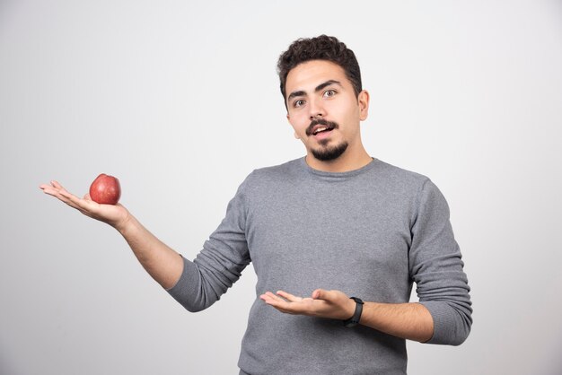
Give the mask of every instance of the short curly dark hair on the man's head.
M 287 75 L 296 65 L 310 60 L 328 60 L 338 64 L 346 72 L 347 79 L 353 85 L 356 96 L 361 88 L 361 71 L 356 55 L 335 37 L 321 35 L 316 38 L 296 39 L 277 61 L 277 73 L 281 81 L 280 89 L 286 108 L 285 83 Z

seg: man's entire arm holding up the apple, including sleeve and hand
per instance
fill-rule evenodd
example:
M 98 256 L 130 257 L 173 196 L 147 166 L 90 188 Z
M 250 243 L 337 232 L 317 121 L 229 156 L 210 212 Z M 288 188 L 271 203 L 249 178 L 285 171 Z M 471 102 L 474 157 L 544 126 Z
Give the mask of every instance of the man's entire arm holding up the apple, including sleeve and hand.
M 244 183 L 229 203 L 223 222 L 206 240 L 194 261 L 180 257 L 154 237 L 123 205 L 100 205 L 89 195 L 80 199 L 68 193 L 57 181 L 40 188 L 82 214 L 117 229 L 154 280 L 186 310 L 196 312 L 218 301 L 250 263 L 244 231 Z

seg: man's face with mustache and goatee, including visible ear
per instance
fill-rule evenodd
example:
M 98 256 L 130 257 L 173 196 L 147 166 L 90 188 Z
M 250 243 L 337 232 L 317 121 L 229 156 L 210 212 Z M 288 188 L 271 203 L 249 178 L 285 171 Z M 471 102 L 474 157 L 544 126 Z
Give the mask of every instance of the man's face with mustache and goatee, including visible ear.
M 363 147 L 359 123 L 367 118 L 369 94 L 357 97 L 341 66 L 325 60 L 296 65 L 285 92 L 287 119 L 309 155 L 332 161 Z

